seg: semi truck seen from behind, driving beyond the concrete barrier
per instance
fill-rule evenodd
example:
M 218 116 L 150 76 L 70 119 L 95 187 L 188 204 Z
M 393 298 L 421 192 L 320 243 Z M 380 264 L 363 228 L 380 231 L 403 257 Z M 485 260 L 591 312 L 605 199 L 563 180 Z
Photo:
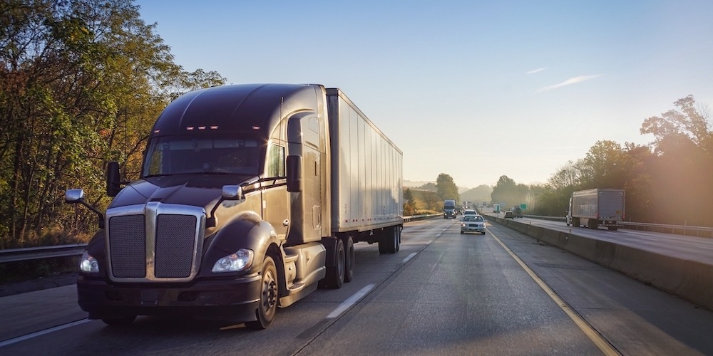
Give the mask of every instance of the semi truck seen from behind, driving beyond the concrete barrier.
M 622 189 L 587 189 L 573 192 L 567 211 L 567 226 L 587 226 L 599 229 L 605 226 L 609 230 L 619 229 L 619 221 L 624 220 L 624 190 Z

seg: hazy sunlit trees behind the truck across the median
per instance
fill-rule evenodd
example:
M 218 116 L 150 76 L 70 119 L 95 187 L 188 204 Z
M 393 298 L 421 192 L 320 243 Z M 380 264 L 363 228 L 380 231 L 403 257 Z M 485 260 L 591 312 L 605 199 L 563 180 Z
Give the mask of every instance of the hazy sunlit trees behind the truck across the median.
M 584 158 L 570 161 L 545 184 L 516 184 L 502 176 L 493 202 L 527 204 L 525 214 L 563 216 L 572 192 L 624 189 L 627 221 L 713 226 L 707 205 L 713 201 L 713 132 L 707 108 L 693 95 L 674 109 L 646 118 L 642 135 L 650 145 L 599 141 Z

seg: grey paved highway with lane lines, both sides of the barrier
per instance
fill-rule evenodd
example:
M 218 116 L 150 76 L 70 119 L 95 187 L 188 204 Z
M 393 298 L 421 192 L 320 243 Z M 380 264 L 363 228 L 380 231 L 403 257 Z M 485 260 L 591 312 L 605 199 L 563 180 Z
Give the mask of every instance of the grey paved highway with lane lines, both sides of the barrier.
M 707 242 L 684 236 L 578 233 L 711 254 Z M 0 353 L 713 355 L 712 311 L 505 226 L 488 222 L 483 236 L 460 234 L 451 219 L 414 221 L 401 239 L 392 255 L 356 244 L 351 283 L 279 309 L 272 327 L 257 332 L 148 317 L 111 328 L 86 320 L 73 286 L 3 297 Z

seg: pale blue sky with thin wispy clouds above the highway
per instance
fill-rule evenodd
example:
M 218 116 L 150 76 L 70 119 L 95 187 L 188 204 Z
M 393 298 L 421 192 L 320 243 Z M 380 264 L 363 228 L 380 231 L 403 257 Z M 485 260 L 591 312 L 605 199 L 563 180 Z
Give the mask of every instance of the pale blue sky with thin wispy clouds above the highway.
M 341 88 L 406 181 L 543 184 L 687 95 L 713 112 L 709 0 L 135 4 L 184 70 Z

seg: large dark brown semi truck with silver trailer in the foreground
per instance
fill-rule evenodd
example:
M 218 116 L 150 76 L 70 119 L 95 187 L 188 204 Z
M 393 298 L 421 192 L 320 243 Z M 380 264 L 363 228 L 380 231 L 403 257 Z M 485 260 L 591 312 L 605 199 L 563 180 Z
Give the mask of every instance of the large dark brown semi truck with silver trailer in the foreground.
M 354 277 L 354 244 L 396 253 L 403 153 L 338 88 L 225 85 L 173 100 L 140 177 L 106 169 L 103 213 L 81 257 L 90 319 L 184 315 L 265 329 L 277 308 Z

